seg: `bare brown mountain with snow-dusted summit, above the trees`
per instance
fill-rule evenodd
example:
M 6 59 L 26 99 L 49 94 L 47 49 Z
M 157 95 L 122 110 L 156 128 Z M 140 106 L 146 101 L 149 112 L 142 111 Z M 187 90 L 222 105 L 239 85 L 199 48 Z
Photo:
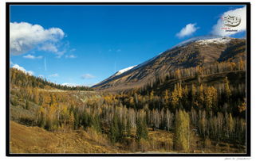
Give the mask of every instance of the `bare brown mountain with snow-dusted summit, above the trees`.
M 175 45 L 137 66 L 116 72 L 93 86 L 96 90 L 129 90 L 147 84 L 170 71 L 206 67 L 217 62 L 246 59 L 246 40 L 227 36 L 198 36 Z

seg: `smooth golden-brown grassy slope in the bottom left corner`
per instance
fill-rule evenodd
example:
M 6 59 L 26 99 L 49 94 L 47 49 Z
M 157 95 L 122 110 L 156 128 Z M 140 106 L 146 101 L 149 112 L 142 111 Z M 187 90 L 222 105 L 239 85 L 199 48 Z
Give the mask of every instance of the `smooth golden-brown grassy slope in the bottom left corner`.
M 11 153 L 118 153 L 93 131 L 48 132 L 10 121 Z

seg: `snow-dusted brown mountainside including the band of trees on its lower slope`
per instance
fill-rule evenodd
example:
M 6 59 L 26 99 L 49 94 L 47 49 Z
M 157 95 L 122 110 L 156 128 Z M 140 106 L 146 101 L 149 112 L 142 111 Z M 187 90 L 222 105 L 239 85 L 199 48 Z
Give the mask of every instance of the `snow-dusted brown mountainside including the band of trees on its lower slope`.
M 123 91 L 141 88 L 156 79 L 193 78 L 226 71 L 242 71 L 246 40 L 225 36 L 202 36 L 186 40 L 120 75 L 112 75 L 93 88 Z M 200 80 L 199 80 L 200 81 Z

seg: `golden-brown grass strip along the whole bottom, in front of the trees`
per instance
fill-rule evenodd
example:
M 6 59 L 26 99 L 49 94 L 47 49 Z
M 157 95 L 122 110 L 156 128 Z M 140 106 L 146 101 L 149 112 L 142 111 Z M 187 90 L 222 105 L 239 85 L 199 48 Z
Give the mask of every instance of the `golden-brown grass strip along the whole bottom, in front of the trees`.
M 135 135 L 135 132 L 132 132 Z M 123 144 L 111 145 L 108 139 L 92 130 L 48 132 L 43 128 L 27 127 L 10 121 L 11 153 L 177 153 L 173 151 L 173 133 L 149 128 L 148 141 L 140 145 L 132 138 Z M 132 139 L 132 140 L 131 140 Z M 125 150 L 121 150 L 125 149 Z M 182 151 L 179 151 L 182 152 Z M 244 153 L 238 144 L 210 141 L 207 145 L 194 136 L 191 153 Z

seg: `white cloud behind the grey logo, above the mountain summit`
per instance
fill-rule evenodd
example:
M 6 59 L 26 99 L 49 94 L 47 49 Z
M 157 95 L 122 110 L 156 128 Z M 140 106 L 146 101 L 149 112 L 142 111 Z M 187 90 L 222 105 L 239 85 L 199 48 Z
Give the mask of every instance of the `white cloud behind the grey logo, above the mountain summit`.
M 223 28 L 228 28 L 227 26 L 224 25 L 224 21 L 223 21 L 223 17 L 227 17 L 227 16 L 241 18 L 240 25 L 236 27 L 230 27 L 230 29 L 232 30 L 238 30 L 237 32 L 226 32 L 226 29 L 223 29 Z M 246 6 L 236 10 L 229 10 L 223 13 L 221 18 L 219 18 L 219 20 L 217 21 L 217 24 L 213 26 L 211 33 L 213 35 L 218 35 L 218 36 L 230 36 L 245 30 L 246 30 Z

